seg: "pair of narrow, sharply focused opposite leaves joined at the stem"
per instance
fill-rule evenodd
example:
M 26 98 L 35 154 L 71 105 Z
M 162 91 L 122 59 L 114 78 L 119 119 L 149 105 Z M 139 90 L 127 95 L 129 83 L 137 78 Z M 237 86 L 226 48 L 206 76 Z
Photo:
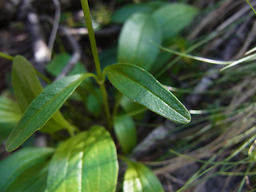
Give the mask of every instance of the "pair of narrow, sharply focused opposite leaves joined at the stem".
M 16 56 L 14 62 L 27 62 L 22 56 Z M 174 122 L 190 122 L 190 113 L 178 99 L 166 90 L 151 74 L 142 68 L 130 64 L 114 64 L 103 70 L 110 82 L 134 102 L 162 115 Z M 22 115 L 6 142 L 6 150 L 12 151 L 22 145 L 36 130 L 39 130 L 52 118 L 70 94 L 86 78 L 94 74 L 75 74 L 54 82 L 39 94 Z

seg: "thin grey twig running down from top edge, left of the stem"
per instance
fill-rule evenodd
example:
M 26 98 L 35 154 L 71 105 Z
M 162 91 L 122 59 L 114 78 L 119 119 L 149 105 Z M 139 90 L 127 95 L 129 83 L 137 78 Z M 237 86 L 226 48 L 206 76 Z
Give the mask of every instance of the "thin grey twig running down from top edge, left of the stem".
M 54 6 L 55 6 L 55 15 L 54 15 L 53 29 L 51 30 L 50 39 L 49 39 L 49 42 L 48 42 L 48 49 L 49 49 L 49 52 L 50 52 L 49 60 L 51 58 L 51 53 L 52 53 L 52 50 L 53 50 L 54 41 L 55 41 L 56 34 L 57 34 L 57 31 L 58 31 L 59 18 L 61 17 L 61 5 L 60 5 L 59 1 L 58 0 L 53 0 L 53 2 L 54 2 Z

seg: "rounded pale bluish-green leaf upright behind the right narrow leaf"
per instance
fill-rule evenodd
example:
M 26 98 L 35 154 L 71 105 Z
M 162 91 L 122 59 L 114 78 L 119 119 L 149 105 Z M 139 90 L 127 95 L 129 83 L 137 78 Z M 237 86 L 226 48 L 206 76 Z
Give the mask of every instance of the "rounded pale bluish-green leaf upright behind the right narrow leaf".
M 122 27 L 118 40 L 118 62 L 130 63 L 150 70 L 158 57 L 161 30 L 148 14 L 134 14 Z M 152 43 L 154 42 L 154 43 Z

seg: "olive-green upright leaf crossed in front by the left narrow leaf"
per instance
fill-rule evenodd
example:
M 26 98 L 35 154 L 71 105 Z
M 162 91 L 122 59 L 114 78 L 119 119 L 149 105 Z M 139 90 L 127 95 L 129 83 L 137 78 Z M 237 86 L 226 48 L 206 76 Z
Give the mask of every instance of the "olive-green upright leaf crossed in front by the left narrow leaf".
M 12 81 L 15 98 L 18 101 L 22 113 L 24 113 L 34 98 L 38 97 L 43 90 L 33 66 L 26 58 L 22 56 L 16 56 L 14 58 Z M 74 126 L 70 125 L 70 123 L 63 118 L 62 114 L 57 111 L 42 130 L 46 133 L 52 133 L 64 128 L 69 130 L 70 134 L 72 134 L 75 129 Z

